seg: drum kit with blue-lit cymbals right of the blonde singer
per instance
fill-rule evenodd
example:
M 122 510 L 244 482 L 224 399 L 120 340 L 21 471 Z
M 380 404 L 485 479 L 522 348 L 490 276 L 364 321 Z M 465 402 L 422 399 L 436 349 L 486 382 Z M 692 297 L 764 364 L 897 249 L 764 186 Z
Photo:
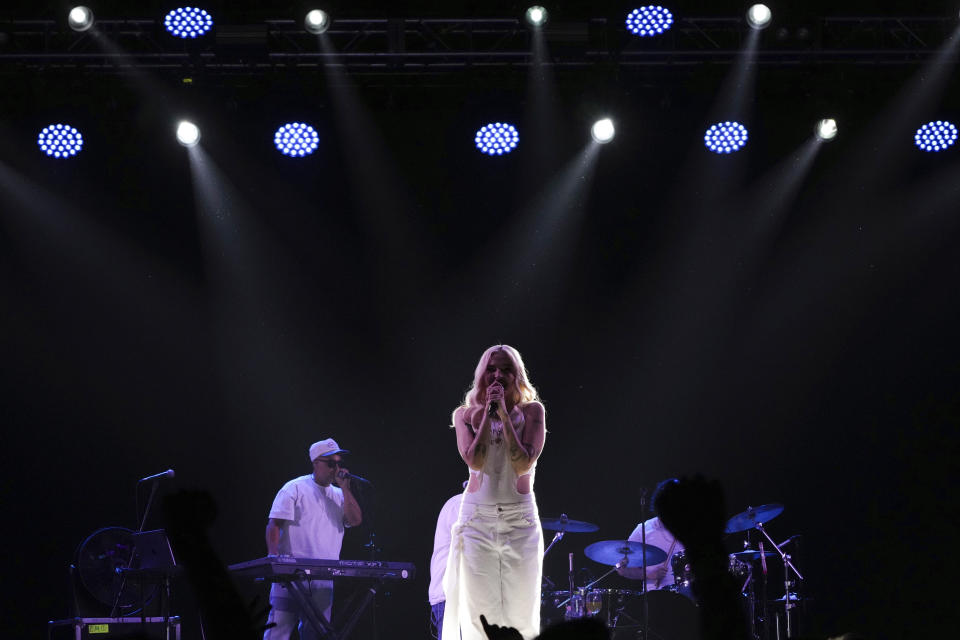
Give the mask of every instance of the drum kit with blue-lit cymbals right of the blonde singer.
M 746 533 L 743 550 L 729 554 L 728 571 L 737 578 L 744 615 L 747 617 L 753 640 L 780 640 L 796 635 L 796 610 L 802 598 L 795 590 L 803 576 L 793 564 L 786 548 L 799 536 L 791 536 L 777 544 L 767 533 L 766 523 L 783 513 L 783 505 L 766 504 L 748 507 L 732 516 L 725 533 Z M 567 533 L 594 533 L 600 527 L 568 518 L 541 518 L 541 526 L 554 531 L 553 540 L 544 556 Z M 757 535 L 753 535 L 754 532 Z M 754 540 L 757 548 L 753 548 Z M 586 584 L 575 584 L 574 554 L 568 555 L 567 589 L 556 589 L 556 584 L 544 578 L 541 592 L 541 625 L 546 628 L 563 620 L 596 617 L 604 622 L 612 640 L 694 640 L 699 637 L 697 602 L 694 596 L 696 576 L 684 550 L 661 549 L 633 540 L 603 540 L 588 545 L 584 555 L 594 562 L 612 567 L 599 578 Z M 779 556 L 783 567 L 783 596 L 767 599 L 768 560 Z M 641 588 L 601 588 L 599 584 L 612 573 L 622 569 L 641 568 L 668 563 L 673 583 L 649 589 L 638 580 Z M 742 582 L 741 582 L 742 580 Z M 779 587 L 778 587 L 779 588 Z M 771 624 L 772 622 L 772 624 Z

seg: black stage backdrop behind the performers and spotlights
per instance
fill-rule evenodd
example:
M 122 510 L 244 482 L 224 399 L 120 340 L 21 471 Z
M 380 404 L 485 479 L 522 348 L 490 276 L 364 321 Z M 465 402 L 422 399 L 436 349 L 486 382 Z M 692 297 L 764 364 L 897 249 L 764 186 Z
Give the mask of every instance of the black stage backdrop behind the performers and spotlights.
M 722 4 L 690 10 L 740 15 Z M 820 9 L 916 12 L 846 4 Z M 366 557 L 372 528 L 381 559 L 415 562 L 376 618 L 381 637 L 427 637 L 436 516 L 466 476 L 450 414 L 499 342 L 523 353 L 547 407 L 541 515 L 601 527 L 551 552 L 558 583 L 569 552 L 599 575 L 583 548 L 631 532 L 641 489 L 703 473 L 731 515 L 785 505 L 769 530 L 803 535 L 807 633 L 952 631 L 957 152 L 887 144 L 880 128 L 919 69 L 761 67 L 751 141 L 730 158 L 701 142 L 729 65 L 558 72 L 552 154 L 531 167 L 524 139 L 503 158 L 472 145 L 491 120 L 532 126 L 522 68 L 356 75 L 348 125 L 321 69 L 191 73 L 189 87 L 156 73 L 145 89 L 5 66 L 2 635 L 41 637 L 69 614 L 77 545 L 135 527 L 136 480 L 168 467 L 161 495 L 214 496 L 225 562 L 262 556 L 275 492 L 332 436 L 376 487 L 342 557 Z M 951 87 L 920 123 L 955 117 L 958 98 Z M 840 137 L 791 192 L 779 177 L 830 109 Z M 556 176 L 608 110 L 617 138 L 568 189 Z M 203 130 L 202 176 L 171 134 L 185 112 Z M 314 156 L 273 150 L 294 119 L 318 128 Z M 86 138 L 69 162 L 35 146 L 57 121 Z M 192 603 L 178 592 L 187 639 Z

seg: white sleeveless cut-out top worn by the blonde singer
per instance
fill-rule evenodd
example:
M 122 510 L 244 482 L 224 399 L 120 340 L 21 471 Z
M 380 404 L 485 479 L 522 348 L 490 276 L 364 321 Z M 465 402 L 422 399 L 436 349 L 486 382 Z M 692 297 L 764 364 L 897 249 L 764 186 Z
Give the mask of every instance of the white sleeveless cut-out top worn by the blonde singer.
M 523 426 L 526 421 L 523 410 L 516 406 L 510 411 L 510 421 L 517 439 L 522 439 Z M 503 434 L 503 422 L 497 417 L 490 418 L 490 446 L 487 449 L 487 458 L 483 469 L 471 469 L 471 482 L 463 494 L 463 501 L 468 504 L 516 504 L 518 502 L 533 501 L 533 479 L 537 469 L 534 462 L 530 470 L 522 475 L 530 476 L 530 493 L 517 491 L 518 474 L 510 464 L 507 437 Z M 477 482 L 479 481 L 479 486 Z M 471 491 L 471 489 L 475 489 Z

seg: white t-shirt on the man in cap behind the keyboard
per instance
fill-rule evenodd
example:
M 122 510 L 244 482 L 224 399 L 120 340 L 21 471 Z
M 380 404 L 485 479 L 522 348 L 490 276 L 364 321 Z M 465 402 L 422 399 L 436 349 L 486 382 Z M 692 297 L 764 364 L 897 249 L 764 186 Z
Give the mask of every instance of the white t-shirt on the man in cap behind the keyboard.
M 340 558 L 343 546 L 343 491 L 321 487 L 313 475 L 294 478 L 273 499 L 270 517 L 286 520 L 278 551 L 297 558 Z

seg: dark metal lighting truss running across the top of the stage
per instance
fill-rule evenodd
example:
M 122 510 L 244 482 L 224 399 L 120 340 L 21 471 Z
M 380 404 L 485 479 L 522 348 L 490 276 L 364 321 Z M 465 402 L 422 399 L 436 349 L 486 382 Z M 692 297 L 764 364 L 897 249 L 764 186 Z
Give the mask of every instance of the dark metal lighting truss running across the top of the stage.
M 764 31 L 756 60 L 783 66 L 915 64 L 933 56 L 956 28 L 953 18 L 818 18 Z M 682 18 L 656 39 L 633 37 L 606 18 L 549 25 L 547 64 L 561 70 L 728 64 L 748 33 L 742 18 Z M 532 63 L 531 32 L 512 18 L 343 19 L 322 37 L 336 53 L 325 53 L 319 37 L 292 20 L 221 25 L 188 42 L 169 36 L 158 20 L 99 20 L 96 30 L 86 33 L 52 20 L 18 20 L 0 23 L 0 73 L 24 68 L 242 73 L 327 64 L 357 73 L 444 73 Z

